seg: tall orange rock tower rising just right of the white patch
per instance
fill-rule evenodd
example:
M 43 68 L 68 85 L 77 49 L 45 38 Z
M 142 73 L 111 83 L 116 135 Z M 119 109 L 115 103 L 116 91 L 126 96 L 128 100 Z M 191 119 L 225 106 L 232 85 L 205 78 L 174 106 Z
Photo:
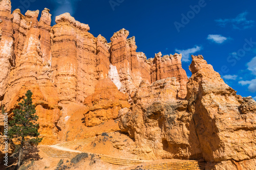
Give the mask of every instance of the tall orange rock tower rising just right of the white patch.
M 110 61 L 118 72 L 119 80 L 115 82 L 121 82 L 119 90 L 131 95 L 142 80 L 150 82 L 150 76 L 145 65 L 139 64 L 140 56 L 137 56 L 135 37 L 127 39 L 127 36 L 129 31 L 122 29 L 111 37 Z M 109 76 L 113 79 L 113 74 Z

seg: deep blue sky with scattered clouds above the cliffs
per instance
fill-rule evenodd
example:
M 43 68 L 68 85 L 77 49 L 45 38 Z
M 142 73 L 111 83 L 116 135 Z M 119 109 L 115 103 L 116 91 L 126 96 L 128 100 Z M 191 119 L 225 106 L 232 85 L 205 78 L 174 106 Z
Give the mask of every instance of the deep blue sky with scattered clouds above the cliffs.
M 238 94 L 256 100 L 255 1 L 12 0 L 12 7 L 23 14 L 46 7 L 53 17 L 70 12 L 108 41 L 125 28 L 147 58 L 182 53 L 188 76 L 190 55 L 201 54 Z

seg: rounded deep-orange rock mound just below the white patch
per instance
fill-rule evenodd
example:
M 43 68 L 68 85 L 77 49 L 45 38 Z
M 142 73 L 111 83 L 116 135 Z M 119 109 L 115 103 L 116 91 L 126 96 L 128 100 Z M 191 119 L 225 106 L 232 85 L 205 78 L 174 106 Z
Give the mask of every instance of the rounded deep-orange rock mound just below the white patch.
M 110 79 L 101 79 L 95 92 L 84 100 L 88 110 L 84 112 L 86 126 L 96 126 L 105 120 L 117 119 L 120 109 L 130 107 L 128 95 L 118 91 Z

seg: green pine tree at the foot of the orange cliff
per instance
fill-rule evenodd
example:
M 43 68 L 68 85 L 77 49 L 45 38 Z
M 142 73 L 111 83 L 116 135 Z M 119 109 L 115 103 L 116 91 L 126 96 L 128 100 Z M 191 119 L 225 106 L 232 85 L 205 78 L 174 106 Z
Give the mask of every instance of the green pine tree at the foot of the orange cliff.
M 23 99 L 24 101 L 18 104 L 19 109 L 13 111 L 14 117 L 9 124 L 9 137 L 11 139 L 16 138 L 19 142 L 17 146 L 19 150 L 16 169 L 18 169 L 22 163 L 25 145 L 28 143 L 38 144 L 41 141 L 41 138 L 38 138 L 39 125 L 36 124 L 38 116 L 35 115 L 35 105 L 32 104 L 32 92 L 28 90 L 26 96 L 27 99 Z

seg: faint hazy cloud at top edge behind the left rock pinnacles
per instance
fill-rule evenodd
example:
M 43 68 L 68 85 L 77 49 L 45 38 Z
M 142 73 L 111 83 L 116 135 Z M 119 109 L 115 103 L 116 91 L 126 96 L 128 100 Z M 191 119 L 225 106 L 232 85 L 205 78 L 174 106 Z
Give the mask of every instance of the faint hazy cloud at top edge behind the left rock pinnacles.
M 53 23 L 55 23 L 55 17 L 63 14 L 63 13 L 70 13 L 71 16 L 76 11 L 77 2 L 80 0 L 53 0 L 51 1 L 55 5 L 55 10 L 53 11 Z

